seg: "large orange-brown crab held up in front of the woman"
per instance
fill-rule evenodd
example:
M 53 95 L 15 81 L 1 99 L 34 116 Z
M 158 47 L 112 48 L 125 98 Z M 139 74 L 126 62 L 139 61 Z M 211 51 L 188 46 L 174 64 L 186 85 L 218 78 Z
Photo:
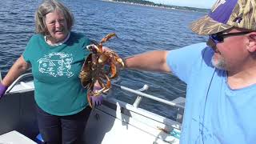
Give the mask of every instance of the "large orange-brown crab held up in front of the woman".
M 82 86 L 87 89 L 87 99 L 90 106 L 92 106 L 90 96 L 97 97 L 110 90 L 110 79 L 118 76 L 117 66 L 121 64 L 124 67 L 124 62 L 118 54 L 102 48 L 102 44 L 114 36 L 117 37 L 114 33 L 107 34 L 98 44 L 86 46 L 91 53 L 86 58 L 79 77 Z M 109 66 L 108 70 L 106 70 L 106 66 Z M 98 82 L 102 89 L 94 90 L 95 82 Z

